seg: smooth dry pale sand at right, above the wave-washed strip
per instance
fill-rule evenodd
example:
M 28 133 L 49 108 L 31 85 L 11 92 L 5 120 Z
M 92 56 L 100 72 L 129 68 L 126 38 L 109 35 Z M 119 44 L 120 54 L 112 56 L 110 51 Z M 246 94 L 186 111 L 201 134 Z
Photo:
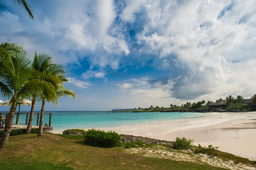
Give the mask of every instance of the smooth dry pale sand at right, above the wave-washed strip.
M 176 137 L 190 138 L 194 139 L 195 145 L 207 147 L 212 144 L 223 152 L 256 160 L 256 112 L 233 114 L 244 114 L 247 117 L 150 137 L 170 141 Z

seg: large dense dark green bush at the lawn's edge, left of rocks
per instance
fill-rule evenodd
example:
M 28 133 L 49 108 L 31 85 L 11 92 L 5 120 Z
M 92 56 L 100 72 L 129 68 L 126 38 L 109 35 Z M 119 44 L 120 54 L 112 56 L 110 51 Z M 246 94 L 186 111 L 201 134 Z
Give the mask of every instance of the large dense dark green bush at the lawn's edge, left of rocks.
M 116 147 L 120 145 L 121 137 L 114 131 L 89 129 L 84 134 L 85 143 L 97 147 Z

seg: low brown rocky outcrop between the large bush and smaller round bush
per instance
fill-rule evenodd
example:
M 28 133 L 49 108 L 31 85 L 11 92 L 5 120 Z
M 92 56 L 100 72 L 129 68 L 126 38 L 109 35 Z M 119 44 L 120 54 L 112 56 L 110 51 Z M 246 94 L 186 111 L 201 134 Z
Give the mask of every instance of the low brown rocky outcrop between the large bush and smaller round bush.
M 135 141 L 142 141 L 146 144 L 165 144 L 169 147 L 172 147 L 173 142 L 172 141 L 164 141 L 159 139 L 152 139 L 142 136 L 134 136 L 134 135 L 120 135 L 121 141 L 124 143 L 134 143 Z

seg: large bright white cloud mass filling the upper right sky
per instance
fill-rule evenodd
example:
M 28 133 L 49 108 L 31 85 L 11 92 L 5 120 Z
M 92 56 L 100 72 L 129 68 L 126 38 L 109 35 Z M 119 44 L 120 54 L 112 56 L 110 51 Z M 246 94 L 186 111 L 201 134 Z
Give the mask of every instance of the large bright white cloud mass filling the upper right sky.
M 232 7 L 218 18 L 230 3 Z M 145 44 L 140 52 L 159 54 L 158 58 L 174 61 L 188 71 L 180 78 L 181 84 L 174 85 L 173 97 L 210 99 L 228 94 L 248 96 L 245 89 L 251 94 L 256 91 L 251 86 L 256 83 L 252 76 L 255 66 L 249 64 L 256 62 L 256 1 L 161 0 L 141 3 L 140 8 L 128 4 L 126 9 L 132 14 L 123 19 L 134 21 L 131 16 L 143 8 L 149 22 L 137 34 L 138 42 Z M 165 62 L 161 67 L 170 66 Z

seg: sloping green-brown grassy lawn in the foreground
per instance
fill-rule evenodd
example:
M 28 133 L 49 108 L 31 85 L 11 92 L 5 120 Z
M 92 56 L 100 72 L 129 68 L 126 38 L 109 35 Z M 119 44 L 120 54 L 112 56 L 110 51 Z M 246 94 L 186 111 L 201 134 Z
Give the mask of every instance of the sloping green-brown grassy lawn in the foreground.
M 44 133 L 11 136 L 0 150 L 1 170 L 224 170 L 208 165 L 123 153 L 122 147 L 99 148 L 83 138 Z

